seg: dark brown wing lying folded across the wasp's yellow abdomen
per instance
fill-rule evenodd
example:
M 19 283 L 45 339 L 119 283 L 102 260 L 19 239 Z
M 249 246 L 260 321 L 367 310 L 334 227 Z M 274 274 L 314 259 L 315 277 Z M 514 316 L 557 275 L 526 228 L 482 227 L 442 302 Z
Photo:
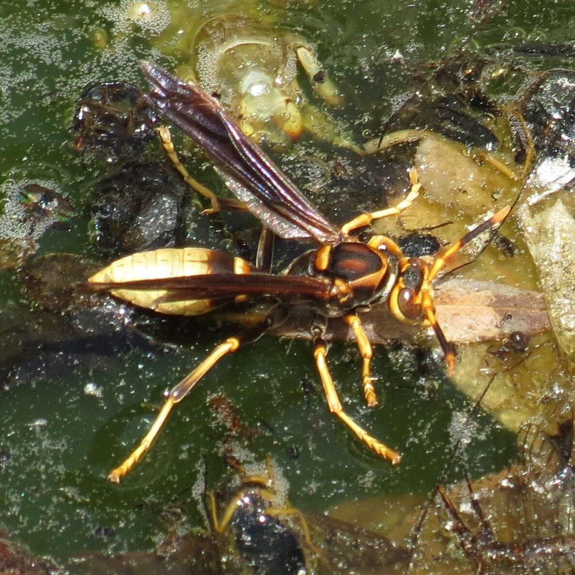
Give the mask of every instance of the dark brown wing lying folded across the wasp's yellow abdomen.
M 202 298 L 252 296 L 301 296 L 326 299 L 331 292 L 327 280 L 297 275 L 207 274 L 164 279 L 140 279 L 127 282 L 86 282 L 76 285 L 89 291 L 166 290 L 162 302 L 200 300 Z

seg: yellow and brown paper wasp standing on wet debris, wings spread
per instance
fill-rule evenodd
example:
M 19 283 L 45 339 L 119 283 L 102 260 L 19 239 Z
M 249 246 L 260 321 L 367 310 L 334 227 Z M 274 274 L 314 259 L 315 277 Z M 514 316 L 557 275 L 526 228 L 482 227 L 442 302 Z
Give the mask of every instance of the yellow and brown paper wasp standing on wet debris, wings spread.
M 168 394 L 150 431 L 135 451 L 108 476 L 118 482 L 143 457 L 171 408 L 225 355 L 258 339 L 273 324 L 284 320 L 290 308 L 312 309 L 317 316 L 311 327 L 313 356 L 323 384 L 329 411 L 371 450 L 398 463 L 401 456 L 360 427 L 343 410 L 327 365 L 323 332 L 327 320 L 342 317 L 354 333 L 362 356 L 362 384 L 367 404 L 377 404 L 371 377 L 371 344 L 362 329 L 360 315 L 371 306 L 387 304 L 398 321 L 430 325 L 448 366 L 455 354 L 435 319 L 432 282 L 446 262 L 480 233 L 504 220 L 504 208 L 478 225 L 457 243 L 444 248 L 432 264 L 405 257 L 385 236 L 362 243 L 351 233 L 371 221 L 396 216 L 418 195 L 415 171 L 412 187 L 397 206 L 363 213 L 342 227 L 321 214 L 270 158 L 253 143 L 221 108 L 218 101 L 193 83 L 184 83 L 151 63 L 144 75 L 154 87 L 145 102 L 158 110 L 195 140 L 218 164 L 218 173 L 264 227 L 286 239 L 315 241 L 320 247 L 299 256 L 284 273 L 275 275 L 241 258 L 206 248 L 163 249 L 140 252 L 116 260 L 83 284 L 160 313 L 200 315 L 214 308 L 266 298 L 276 302 L 258 325 L 220 343 L 206 359 Z

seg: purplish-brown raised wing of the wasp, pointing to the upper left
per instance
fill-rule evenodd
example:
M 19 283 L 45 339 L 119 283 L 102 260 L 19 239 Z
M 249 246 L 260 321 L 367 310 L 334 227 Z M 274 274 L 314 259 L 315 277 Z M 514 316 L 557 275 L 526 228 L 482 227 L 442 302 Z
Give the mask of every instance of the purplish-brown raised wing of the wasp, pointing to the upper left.
M 154 86 L 145 96 L 148 103 L 217 160 L 235 196 L 274 233 L 322 244 L 342 241 L 339 228 L 244 135 L 216 99 L 154 64 L 144 63 L 142 70 Z

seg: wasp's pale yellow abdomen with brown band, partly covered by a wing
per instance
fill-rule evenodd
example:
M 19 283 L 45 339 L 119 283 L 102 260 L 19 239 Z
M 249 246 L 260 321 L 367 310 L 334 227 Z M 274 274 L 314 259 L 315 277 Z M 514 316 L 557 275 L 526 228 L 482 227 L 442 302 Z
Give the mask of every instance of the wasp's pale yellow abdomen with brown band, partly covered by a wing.
M 162 248 L 117 259 L 88 279 L 91 283 L 128 282 L 191 275 L 246 274 L 252 266 L 241 258 L 206 248 Z M 166 290 L 111 289 L 110 293 L 141 308 L 169 315 L 198 316 L 225 303 L 202 300 L 161 301 Z M 230 299 L 233 301 L 233 298 Z

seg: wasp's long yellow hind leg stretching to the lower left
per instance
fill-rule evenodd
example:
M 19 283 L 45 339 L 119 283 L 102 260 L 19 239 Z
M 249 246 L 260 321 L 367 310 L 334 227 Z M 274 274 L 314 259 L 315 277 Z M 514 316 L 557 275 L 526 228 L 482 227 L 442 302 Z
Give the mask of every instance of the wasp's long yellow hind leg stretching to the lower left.
M 156 417 L 154 423 L 152 423 L 152 427 L 147 434 L 144 435 L 139 446 L 132 451 L 121 465 L 110 471 L 108 475 L 108 479 L 110 481 L 113 483 L 119 483 L 120 479 L 132 470 L 136 463 L 140 461 L 145 452 L 150 448 L 174 405 L 182 401 L 191 389 L 194 388 L 197 382 L 200 381 L 200 379 L 204 377 L 204 375 L 208 373 L 208 371 L 212 369 L 212 367 L 216 365 L 221 358 L 232 351 L 236 351 L 241 344 L 254 342 L 267 331 L 270 325 L 278 319 L 278 316 L 275 316 L 274 312 L 275 310 L 273 310 L 262 323 L 255 325 L 250 329 L 246 329 L 246 331 L 241 332 L 239 335 L 229 338 L 225 340 L 225 342 L 216 346 L 208 357 L 204 359 L 198 367 L 196 367 L 196 369 L 194 369 L 189 375 L 186 375 L 186 377 L 171 390 L 166 402 L 158 414 L 158 417 Z

